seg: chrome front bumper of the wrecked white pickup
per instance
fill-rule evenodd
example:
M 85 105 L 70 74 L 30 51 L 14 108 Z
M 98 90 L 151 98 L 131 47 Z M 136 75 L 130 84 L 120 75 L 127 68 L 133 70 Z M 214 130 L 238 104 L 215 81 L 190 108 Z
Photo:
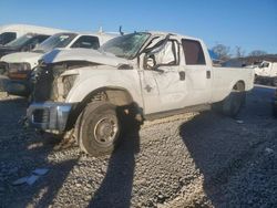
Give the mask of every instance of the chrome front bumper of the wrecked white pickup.
M 72 108 L 73 104 L 68 103 L 33 103 L 27 110 L 27 118 L 34 128 L 62 133 L 65 131 Z

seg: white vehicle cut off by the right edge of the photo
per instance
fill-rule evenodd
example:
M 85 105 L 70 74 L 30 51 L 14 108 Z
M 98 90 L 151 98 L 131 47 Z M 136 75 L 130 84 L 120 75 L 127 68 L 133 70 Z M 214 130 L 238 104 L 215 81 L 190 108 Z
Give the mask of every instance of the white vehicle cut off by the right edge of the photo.
M 263 61 L 254 70 L 256 83 L 277 86 L 277 62 Z

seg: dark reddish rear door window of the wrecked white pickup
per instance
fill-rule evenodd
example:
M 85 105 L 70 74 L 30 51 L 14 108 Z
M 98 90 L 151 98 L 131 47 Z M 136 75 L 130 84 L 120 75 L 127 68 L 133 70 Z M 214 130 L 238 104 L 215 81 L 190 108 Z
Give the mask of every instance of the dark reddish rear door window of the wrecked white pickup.
M 204 52 L 198 41 L 183 39 L 182 45 L 185 53 L 186 65 L 206 64 Z

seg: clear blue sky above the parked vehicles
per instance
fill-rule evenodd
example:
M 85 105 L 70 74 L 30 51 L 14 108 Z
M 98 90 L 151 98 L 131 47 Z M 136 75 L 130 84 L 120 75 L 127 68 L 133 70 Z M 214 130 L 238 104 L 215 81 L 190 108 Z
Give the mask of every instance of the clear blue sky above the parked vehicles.
M 0 0 L 0 25 L 28 23 L 74 30 L 168 31 L 208 48 L 277 54 L 277 0 Z

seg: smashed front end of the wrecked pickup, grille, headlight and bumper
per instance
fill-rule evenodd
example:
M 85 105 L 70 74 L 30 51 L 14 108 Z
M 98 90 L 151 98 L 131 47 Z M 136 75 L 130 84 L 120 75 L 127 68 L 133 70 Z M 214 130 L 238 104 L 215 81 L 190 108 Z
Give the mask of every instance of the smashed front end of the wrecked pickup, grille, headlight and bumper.
M 65 103 L 79 74 L 75 67 L 88 66 L 88 62 L 68 62 L 40 64 L 32 73 L 32 104 L 27 116 L 35 128 L 63 133 L 66 131 L 69 116 L 75 108 L 74 103 Z

